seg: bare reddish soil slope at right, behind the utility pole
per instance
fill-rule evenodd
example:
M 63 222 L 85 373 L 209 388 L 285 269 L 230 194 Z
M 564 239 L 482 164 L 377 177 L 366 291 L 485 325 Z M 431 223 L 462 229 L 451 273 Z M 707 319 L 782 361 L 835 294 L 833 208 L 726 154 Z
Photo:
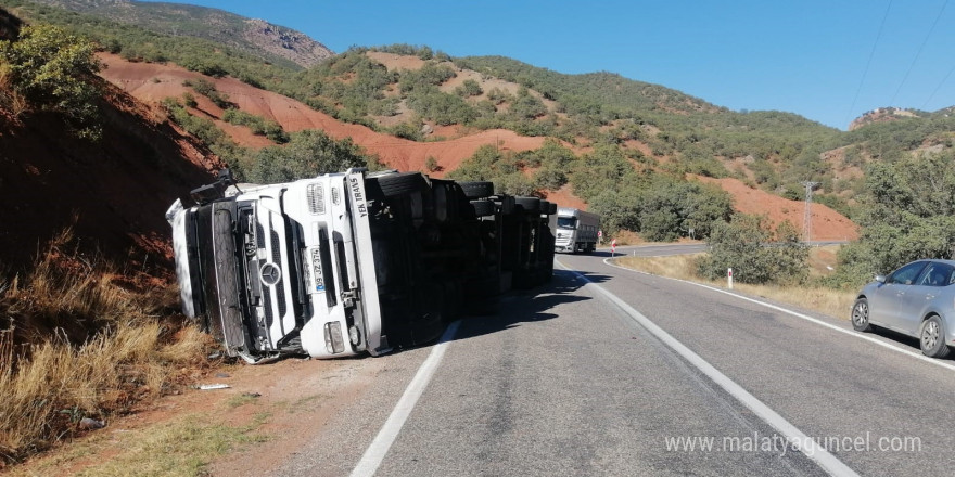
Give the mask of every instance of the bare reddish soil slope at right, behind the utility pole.
M 751 189 L 738 179 L 712 179 L 697 177 L 701 182 L 714 183 L 733 195 L 734 206 L 743 214 L 763 215 L 776 225 L 788 220 L 802 230 L 805 203 L 789 201 L 759 189 Z M 812 204 L 813 241 L 852 241 L 858 238 L 858 225 L 845 216 L 823 204 Z

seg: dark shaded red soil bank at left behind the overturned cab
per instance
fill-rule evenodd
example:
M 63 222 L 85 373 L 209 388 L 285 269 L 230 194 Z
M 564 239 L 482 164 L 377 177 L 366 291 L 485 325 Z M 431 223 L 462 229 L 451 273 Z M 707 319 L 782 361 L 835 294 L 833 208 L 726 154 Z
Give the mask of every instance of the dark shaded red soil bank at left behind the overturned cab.
M 103 81 L 103 139 L 63 132 L 50 115 L 0 118 L 0 265 L 20 268 L 66 227 L 130 270 L 171 269 L 164 214 L 183 184 L 221 167 L 162 114 Z

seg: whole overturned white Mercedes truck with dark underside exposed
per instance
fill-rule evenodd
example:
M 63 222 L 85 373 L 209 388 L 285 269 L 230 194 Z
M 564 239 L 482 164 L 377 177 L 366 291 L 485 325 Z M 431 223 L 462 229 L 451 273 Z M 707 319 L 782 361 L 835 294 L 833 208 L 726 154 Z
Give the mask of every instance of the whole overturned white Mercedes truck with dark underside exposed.
M 295 182 L 228 173 L 166 212 L 182 310 L 230 356 L 379 356 L 553 274 L 556 204 L 491 182 L 353 168 Z

